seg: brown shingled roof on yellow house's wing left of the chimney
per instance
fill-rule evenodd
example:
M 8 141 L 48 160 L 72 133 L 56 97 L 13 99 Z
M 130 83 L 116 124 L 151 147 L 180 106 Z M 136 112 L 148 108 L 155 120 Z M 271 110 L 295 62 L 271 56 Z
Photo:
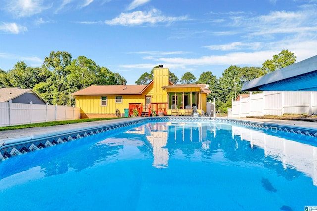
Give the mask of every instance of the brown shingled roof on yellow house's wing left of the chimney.
M 141 94 L 147 85 L 93 85 L 71 95 L 126 95 Z

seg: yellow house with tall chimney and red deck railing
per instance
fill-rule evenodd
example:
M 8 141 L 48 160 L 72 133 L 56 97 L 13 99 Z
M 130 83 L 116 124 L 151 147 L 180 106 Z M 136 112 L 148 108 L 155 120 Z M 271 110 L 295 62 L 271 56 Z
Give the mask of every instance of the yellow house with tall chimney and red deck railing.
M 129 116 L 192 115 L 206 111 L 206 97 L 210 90 L 205 84 L 175 85 L 169 81 L 169 69 L 153 70 L 148 85 L 90 86 L 72 93 L 81 118 L 115 117 L 129 109 Z M 134 113 L 133 113 L 134 112 Z M 151 114 L 152 112 L 152 114 Z

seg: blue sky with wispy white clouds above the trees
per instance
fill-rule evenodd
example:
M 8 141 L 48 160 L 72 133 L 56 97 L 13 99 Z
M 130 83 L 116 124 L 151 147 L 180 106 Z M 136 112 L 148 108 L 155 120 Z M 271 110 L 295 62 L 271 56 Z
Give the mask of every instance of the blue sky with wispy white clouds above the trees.
M 317 55 L 317 0 L 0 0 L 0 69 L 86 56 L 134 82 L 163 64 L 178 78 L 261 66 L 283 49 Z

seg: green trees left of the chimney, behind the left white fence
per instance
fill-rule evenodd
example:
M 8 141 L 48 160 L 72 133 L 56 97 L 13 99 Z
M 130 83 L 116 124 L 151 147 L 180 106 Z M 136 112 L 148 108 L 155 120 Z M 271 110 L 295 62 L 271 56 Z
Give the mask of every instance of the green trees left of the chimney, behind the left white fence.
M 73 105 L 70 94 L 91 85 L 122 85 L 126 80 L 93 60 L 52 51 L 42 67 L 19 61 L 9 71 L 0 69 L 0 87 L 31 88 L 50 104 Z

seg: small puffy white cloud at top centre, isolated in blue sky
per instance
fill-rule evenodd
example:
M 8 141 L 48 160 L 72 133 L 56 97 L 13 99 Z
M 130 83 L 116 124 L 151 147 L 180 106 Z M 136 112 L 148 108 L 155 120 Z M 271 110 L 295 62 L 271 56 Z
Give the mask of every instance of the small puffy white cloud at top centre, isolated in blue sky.
M 152 9 L 149 12 L 135 11 L 132 13 L 121 13 L 118 17 L 112 20 L 106 20 L 105 23 L 108 25 L 123 25 L 133 26 L 142 25 L 144 23 L 155 24 L 159 22 L 175 22 L 187 20 L 186 16 L 180 17 L 167 17 L 161 15 L 161 12 L 157 9 Z

